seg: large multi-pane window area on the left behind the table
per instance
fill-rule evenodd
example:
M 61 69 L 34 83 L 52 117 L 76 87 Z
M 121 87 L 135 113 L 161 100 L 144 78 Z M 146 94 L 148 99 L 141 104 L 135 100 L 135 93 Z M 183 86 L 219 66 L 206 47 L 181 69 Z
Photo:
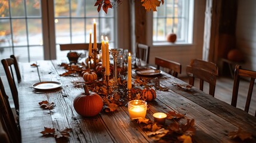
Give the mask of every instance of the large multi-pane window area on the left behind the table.
M 109 8 L 107 14 L 103 10 L 98 13 L 94 4 L 95 1 L 87 0 L 0 1 L 0 57 L 15 54 L 18 61 L 30 62 L 44 60 L 52 50 L 57 53 L 57 59 L 66 58 L 66 54 L 59 52 L 59 44 L 89 42 L 93 19 L 97 22 L 97 42 L 101 42 L 101 35 L 104 35 L 108 36 L 109 44 L 114 45 L 115 10 Z M 54 20 L 42 16 L 45 9 L 54 15 Z M 50 39 L 45 31 L 51 27 L 43 31 L 42 24 L 55 24 L 55 35 L 51 36 L 56 43 L 51 46 L 55 47 L 45 48 L 44 38 Z M 48 57 L 55 58 L 56 55 Z

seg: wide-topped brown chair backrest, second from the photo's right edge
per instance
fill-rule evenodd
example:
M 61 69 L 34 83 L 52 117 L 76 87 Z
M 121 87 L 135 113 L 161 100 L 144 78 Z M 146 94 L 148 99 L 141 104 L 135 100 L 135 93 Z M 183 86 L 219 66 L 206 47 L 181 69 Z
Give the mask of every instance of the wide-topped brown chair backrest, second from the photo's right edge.
M 199 59 L 191 60 L 186 68 L 187 76 L 189 76 L 189 84 L 194 85 L 195 78 L 200 80 L 199 88 L 203 91 L 203 82 L 209 83 L 209 94 L 214 97 L 216 80 L 218 76 L 218 66 L 214 63 Z

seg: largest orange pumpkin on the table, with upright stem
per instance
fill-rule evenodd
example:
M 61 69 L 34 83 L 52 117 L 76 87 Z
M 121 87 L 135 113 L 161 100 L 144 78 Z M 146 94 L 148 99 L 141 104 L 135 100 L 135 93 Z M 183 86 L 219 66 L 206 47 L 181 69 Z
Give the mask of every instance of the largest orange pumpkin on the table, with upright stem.
M 90 92 L 86 85 L 84 85 L 84 90 L 84 95 L 78 95 L 74 99 L 73 106 L 81 116 L 96 116 L 103 108 L 103 100 L 97 93 Z

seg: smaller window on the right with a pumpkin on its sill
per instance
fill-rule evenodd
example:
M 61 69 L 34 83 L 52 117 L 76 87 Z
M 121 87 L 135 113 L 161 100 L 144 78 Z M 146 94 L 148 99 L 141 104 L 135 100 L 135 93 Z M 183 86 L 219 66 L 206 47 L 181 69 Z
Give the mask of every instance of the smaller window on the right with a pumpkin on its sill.
M 193 1 L 165 0 L 153 13 L 153 44 L 166 42 L 166 35 L 175 33 L 175 43 L 192 43 Z

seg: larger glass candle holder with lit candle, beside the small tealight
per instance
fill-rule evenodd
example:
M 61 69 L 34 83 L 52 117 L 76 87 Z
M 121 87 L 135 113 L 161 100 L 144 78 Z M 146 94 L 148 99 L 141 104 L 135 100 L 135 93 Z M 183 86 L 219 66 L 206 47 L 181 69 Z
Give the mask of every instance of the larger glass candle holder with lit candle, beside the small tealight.
M 129 101 L 128 111 L 129 111 L 129 117 L 131 119 L 138 118 L 138 117 L 145 118 L 147 113 L 147 102 L 143 100 Z

